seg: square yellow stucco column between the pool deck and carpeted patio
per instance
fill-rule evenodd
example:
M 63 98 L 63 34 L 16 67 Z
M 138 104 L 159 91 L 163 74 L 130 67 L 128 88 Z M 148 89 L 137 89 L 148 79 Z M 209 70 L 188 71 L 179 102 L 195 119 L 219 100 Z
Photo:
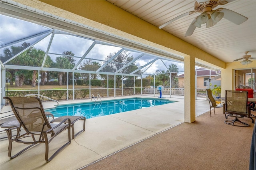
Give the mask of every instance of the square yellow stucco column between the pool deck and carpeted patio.
M 192 123 L 196 121 L 196 81 L 195 81 L 195 57 L 184 57 L 184 121 Z

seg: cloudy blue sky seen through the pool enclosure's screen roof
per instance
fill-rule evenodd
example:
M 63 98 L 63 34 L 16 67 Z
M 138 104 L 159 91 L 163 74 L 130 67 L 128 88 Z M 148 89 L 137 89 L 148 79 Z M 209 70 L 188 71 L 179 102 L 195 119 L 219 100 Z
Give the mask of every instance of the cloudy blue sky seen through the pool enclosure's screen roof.
M 15 42 L 17 40 L 21 40 L 23 38 L 27 38 L 29 36 L 33 36 L 42 32 L 46 32 L 52 30 L 51 28 L 46 28 L 44 26 L 40 26 L 38 24 L 26 22 L 23 20 L 19 20 L 16 18 L 11 18 L 9 16 L 0 15 L 0 45 L 5 45 L 11 42 Z M 26 42 L 30 42 L 31 44 L 37 41 L 39 38 L 44 38 L 40 42 L 36 43 L 34 47 L 42 49 L 43 51 L 47 50 L 48 44 L 50 42 L 49 36 L 38 36 L 31 40 L 26 40 Z M 50 45 L 49 53 L 58 53 L 62 54 L 64 51 L 72 51 L 74 56 L 82 57 L 84 53 L 86 53 L 87 49 L 92 45 L 93 41 L 88 40 L 86 38 L 81 38 L 77 36 L 73 36 L 70 34 L 54 34 L 54 38 Z M 14 44 L 19 46 L 22 42 Z M 3 53 L 3 49 L 1 48 L 1 54 Z M 105 60 L 106 56 L 110 53 L 117 52 L 121 49 L 121 47 L 114 47 L 109 45 L 96 44 L 92 50 L 86 55 L 87 58 L 92 59 L 101 59 Z M 56 57 L 60 55 L 48 54 L 55 61 Z M 137 57 L 140 53 L 130 52 L 130 55 L 133 57 Z M 155 57 L 152 56 L 143 56 L 136 61 L 136 65 L 143 66 L 153 60 Z M 74 58 L 75 63 L 77 63 L 80 58 Z M 178 63 L 174 61 L 163 60 L 165 65 L 168 67 L 172 63 L 176 64 L 179 71 L 184 71 L 184 64 Z M 83 62 L 83 61 L 82 61 Z M 82 63 L 81 62 L 81 63 Z M 102 63 L 101 61 L 98 61 Z M 145 68 L 146 69 L 146 68 Z M 143 69 L 145 71 L 145 69 Z M 164 66 L 162 61 L 158 59 L 155 63 L 153 63 L 149 69 L 146 70 L 144 74 L 153 74 L 156 73 L 157 70 L 166 71 L 167 68 Z M 183 72 L 182 72 L 183 73 Z M 180 74 L 182 74 L 180 73 Z

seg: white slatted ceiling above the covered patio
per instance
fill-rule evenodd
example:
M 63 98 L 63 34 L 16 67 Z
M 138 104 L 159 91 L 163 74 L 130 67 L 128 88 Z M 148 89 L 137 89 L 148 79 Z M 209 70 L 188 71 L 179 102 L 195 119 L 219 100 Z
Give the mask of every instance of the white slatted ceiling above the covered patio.
M 195 3 L 194 0 L 108 0 L 108 2 L 157 27 L 176 16 L 193 11 Z M 206 24 L 203 24 L 201 28 L 196 28 L 192 36 L 185 37 L 192 20 L 200 15 L 194 13 L 162 29 L 224 62 L 232 62 L 242 57 L 245 51 L 250 51 L 248 55 L 256 57 L 256 0 L 229 0 L 228 4 L 219 5 L 214 9 L 218 8 L 233 10 L 246 16 L 248 20 L 236 25 L 222 18 L 215 26 L 206 28 Z

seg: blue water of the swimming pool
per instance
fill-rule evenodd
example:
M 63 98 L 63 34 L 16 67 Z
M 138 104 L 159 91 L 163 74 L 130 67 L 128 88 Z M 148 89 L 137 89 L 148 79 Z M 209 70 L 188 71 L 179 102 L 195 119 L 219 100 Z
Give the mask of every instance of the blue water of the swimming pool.
M 90 103 L 78 103 L 73 105 L 59 105 L 54 109 L 47 110 L 51 112 L 54 117 L 60 116 L 85 116 L 86 119 L 93 117 L 111 115 L 145 107 L 153 107 L 157 105 L 164 105 L 173 103 L 166 99 L 152 99 L 152 98 L 130 98 L 118 99 L 111 101 L 100 101 Z

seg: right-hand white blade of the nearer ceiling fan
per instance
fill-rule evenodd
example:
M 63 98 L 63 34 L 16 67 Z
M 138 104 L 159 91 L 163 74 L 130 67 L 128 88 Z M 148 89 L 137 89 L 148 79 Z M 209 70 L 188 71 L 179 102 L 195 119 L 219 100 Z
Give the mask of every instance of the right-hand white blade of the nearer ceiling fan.
M 233 22 L 234 24 L 240 25 L 246 20 L 248 20 L 247 17 L 238 14 L 237 12 L 234 12 L 232 10 L 228 10 L 226 8 L 219 8 L 218 11 L 221 11 L 224 13 L 223 18 L 229 20 L 230 22 Z

